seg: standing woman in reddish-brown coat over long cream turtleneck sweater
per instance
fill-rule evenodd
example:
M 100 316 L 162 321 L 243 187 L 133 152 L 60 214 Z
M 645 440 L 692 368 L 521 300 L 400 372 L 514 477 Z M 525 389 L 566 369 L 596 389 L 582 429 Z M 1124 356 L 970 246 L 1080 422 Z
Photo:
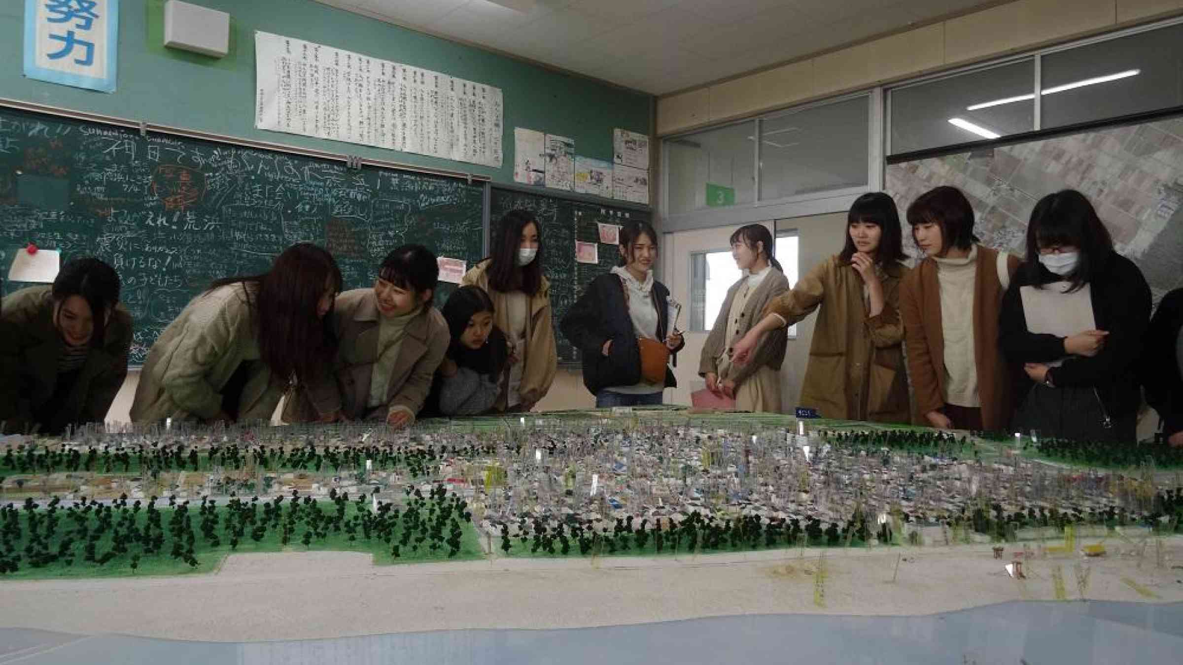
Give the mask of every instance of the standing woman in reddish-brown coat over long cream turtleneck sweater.
M 955 187 L 922 194 L 907 207 L 907 222 L 927 254 L 899 298 L 920 424 L 1003 430 L 1013 390 L 998 350 L 998 311 L 1020 262 L 975 244 L 974 208 Z

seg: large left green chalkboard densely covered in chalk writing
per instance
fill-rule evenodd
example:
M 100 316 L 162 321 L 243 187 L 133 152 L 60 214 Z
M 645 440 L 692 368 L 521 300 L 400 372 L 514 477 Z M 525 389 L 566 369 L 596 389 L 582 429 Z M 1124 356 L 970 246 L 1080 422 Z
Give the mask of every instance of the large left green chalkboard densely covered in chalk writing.
M 480 183 L 0 109 L 0 265 L 27 243 L 110 263 L 134 364 L 213 279 L 295 243 L 327 247 L 355 289 L 403 243 L 478 260 L 483 213 Z

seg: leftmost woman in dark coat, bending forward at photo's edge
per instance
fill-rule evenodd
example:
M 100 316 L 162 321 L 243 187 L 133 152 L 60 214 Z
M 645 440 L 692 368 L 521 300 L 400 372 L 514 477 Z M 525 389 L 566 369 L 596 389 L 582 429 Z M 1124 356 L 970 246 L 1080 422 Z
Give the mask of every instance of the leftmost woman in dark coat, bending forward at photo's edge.
M 0 305 L 0 424 L 5 433 L 59 434 L 102 422 L 128 375 L 131 315 L 119 276 L 102 260 L 66 262 L 52 286 Z

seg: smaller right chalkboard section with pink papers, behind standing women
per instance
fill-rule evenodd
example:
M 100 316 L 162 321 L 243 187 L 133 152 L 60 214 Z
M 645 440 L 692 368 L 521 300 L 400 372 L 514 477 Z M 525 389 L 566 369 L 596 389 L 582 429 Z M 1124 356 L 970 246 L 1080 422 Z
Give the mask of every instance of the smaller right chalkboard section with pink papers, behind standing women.
M 490 211 L 492 224 L 496 226 L 502 215 L 515 208 L 534 212 L 542 225 L 545 244 L 542 267 L 550 279 L 550 305 L 558 342 L 558 362 L 567 366 L 578 364 L 578 350 L 558 330 L 558 322 L 583 295 L 587 285 L 600 275 L 610 271 L 620 259 L 616 245 L 600 243 L 600 224 L 620 225 L 629 219 L 649 221 L 649 213 L 494 187 Z M 590 264 L 575 260 L 576 240 L 595 243 L 599 262 Z

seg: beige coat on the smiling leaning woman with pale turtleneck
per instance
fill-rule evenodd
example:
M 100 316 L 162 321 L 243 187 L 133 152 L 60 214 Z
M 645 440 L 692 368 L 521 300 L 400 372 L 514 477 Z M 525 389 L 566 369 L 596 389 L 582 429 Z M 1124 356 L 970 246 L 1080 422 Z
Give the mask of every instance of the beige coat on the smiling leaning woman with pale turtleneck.
M 390 369 L 386 403 L 369 408 L 370 377 L 379 361 L 382 314 L 374 289 L 354 289 L 337 296 L 334 331 L 341 346 L 334 376 L 299 389 L 284 405 L 286 422 L 311 421 L 341 411 L 350 420 L 386 420 L 390 409 L 416 415 L 432 389 L 432 376 L 451 343 L 447 322 L 428 306 L 407 324 L 399 359 Z

